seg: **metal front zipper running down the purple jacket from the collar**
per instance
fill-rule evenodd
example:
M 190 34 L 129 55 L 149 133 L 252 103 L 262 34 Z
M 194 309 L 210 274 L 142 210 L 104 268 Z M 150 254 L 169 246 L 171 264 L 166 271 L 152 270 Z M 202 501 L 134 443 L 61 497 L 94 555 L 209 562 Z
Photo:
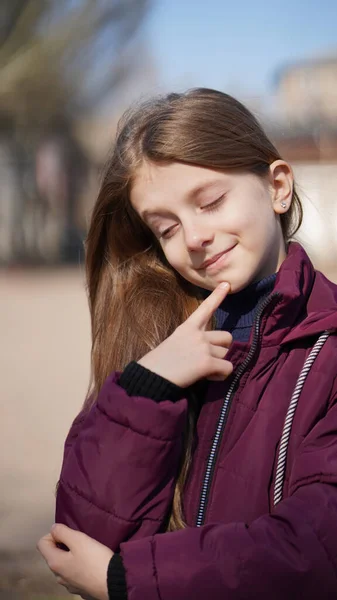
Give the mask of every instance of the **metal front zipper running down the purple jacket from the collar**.
M 198 514 L 197 514 L 197 519 L 196 519 L 197 527 L 201 527 L 201 525 L 203 525 L 204 520 L 205 520 L 206 509 L 207 509 L 207 504 L 208 504 L 208 499 L 209 499 L 209 492 L 210 492 L 212 481 L 213 481 L 214 468 L 215 468 L 217 457 L 218 457 L 220 442 L 221 442 L 223 432 L 224 432 L 224 429 L 225 429 L 225 426 L 226 426 L 226 423 L 228 420 L 228 413 L 229 413 L 229 409 L 231 407 L 235 389 L 236 389 L 242 375 L 244 374 L 244 372 L 246 371 L 250 362 L 252 361 L 252 359 L 256 353 L 256 350 L 258 348 L 259 339 L 260 339 L 260 325 L 261 325 L 262 315 L 263 315 L 265 309 L 267 308 L 267 306 L 271 303 L 271 301 L 274 298 L 279 298 L 279 297 L 280 297 L 280 294 L 278 292 L 276 292 L 275 294 L 271 294 L 270 296 L 265 298 L 261 302 L 260 306 L 258 307 L 256 317 L 255 317 L 255 320 L 253 323 L 254 335 L 253 335 L 252 345 L 250 347 L 250 350 L 249 350 L 245 360 L 238 367 L 236 375 L 235 375 L 235 377 L 231 383 L 231 386 L 224 398 L 224 402 L 223 402 L 223 405 L 221 408 L 217 428 L 215 431 L 215 436 L 213 438 L 211 451 L 210 451 L 207 465 L 206 465 L 206 471 L 205 471 L 203 484 L 201 487 L 199 509 L 198 509 Z

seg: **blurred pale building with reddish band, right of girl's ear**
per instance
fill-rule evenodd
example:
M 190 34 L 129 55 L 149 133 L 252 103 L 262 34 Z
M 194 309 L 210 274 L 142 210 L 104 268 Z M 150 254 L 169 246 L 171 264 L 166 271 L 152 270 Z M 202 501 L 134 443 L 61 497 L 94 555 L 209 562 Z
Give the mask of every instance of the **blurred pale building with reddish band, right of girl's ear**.
M 282 66 L 267 131 L 294 168 L 304 207 L 297 237 L 315 265 L 337 280 L 337 51 Z

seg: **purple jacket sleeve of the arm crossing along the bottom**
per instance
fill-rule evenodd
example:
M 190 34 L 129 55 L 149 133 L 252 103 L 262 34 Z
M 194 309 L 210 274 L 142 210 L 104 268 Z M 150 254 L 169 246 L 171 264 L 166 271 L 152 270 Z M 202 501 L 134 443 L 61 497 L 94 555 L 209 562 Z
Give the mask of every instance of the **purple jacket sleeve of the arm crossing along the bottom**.
M 298 450 L 291 495 L 249 526 L 210 523 L 122 544 L 128 600 L 334 598 L 336 431 L 334 405 Z

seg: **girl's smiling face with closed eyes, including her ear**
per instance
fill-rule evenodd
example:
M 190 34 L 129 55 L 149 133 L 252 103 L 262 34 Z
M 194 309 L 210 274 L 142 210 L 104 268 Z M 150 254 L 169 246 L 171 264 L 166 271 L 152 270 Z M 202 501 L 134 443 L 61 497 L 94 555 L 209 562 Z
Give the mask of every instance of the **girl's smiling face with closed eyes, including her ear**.
M 144 163 L 131 203 L 180 275 L 208 290 L 228 281 L 234 293 L 279 269 L 286 256 L 279 215 L 291 196 L 292 173 L 281 160 L 265 178 Z

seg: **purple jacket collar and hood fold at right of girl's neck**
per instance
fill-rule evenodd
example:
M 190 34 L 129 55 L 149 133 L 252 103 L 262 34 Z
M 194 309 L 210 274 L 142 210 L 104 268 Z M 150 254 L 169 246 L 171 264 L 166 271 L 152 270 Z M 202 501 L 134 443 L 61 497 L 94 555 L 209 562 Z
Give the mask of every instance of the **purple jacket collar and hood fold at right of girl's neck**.
M 288 246 L 271 296 L 275 296 L 270 304 L 274 308 L 266 309 L 263 346 L 337 331 L 337 286 L 314 269 L 297 242 Z

